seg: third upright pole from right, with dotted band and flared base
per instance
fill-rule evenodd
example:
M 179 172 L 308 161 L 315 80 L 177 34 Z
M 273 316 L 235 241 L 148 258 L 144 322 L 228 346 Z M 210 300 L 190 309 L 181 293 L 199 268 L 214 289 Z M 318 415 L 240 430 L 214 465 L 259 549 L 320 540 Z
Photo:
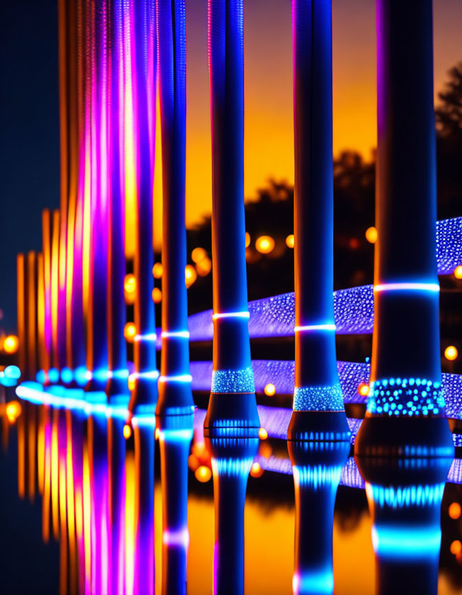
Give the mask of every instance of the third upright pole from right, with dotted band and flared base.
M 223 420 L 229 427 L 258 428 L 245 271 L 243 0 L 208 1 L 208 61 L 214 336 L 204 429 Z

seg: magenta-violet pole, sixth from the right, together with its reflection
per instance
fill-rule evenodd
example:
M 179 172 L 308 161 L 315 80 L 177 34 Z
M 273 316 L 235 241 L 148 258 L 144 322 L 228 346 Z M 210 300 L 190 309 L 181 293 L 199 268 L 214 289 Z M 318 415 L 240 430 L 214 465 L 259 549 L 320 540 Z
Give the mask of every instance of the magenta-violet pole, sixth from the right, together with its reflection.
M 106 394 L 111 406 L 107 421 L 109 461 L 109 583 L 110 593 L 124 592 L 125 564 L 125 439 L 123 436 L 130 393 L 124 340 L 125 302 L 125 196 L 123 168 L 123 45 L 122 0 L 114 0 L 109 14 L 109 254 L 108 354 Z

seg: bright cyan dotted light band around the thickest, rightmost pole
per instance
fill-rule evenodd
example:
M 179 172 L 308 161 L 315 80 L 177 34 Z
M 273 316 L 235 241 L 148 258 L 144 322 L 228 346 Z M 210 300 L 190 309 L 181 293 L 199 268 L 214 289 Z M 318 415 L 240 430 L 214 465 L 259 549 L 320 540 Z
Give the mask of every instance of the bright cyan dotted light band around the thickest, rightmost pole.
M 390 416 L 444 415 L 441 383 L 421 378 L 377 380 L 369 390 L 367 410 Z

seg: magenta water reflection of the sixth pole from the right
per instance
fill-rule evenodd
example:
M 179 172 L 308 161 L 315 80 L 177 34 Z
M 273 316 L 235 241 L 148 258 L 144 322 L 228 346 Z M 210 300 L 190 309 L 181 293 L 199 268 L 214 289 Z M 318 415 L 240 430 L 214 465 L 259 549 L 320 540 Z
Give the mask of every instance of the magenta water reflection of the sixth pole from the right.
M 108 593 L 124 593 L 125 581 L 125 438 L 122 417 L 110 416 L 107 422 L 109 464 Z

